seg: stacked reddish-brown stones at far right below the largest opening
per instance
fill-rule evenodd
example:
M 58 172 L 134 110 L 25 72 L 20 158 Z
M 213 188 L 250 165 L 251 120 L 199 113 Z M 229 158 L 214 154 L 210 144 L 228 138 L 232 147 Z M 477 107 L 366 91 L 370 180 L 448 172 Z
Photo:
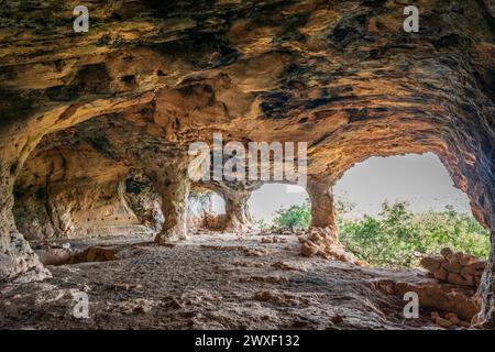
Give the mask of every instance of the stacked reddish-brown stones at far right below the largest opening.
M 426 256 L 421 265 L 439 280 L 454 285 L 477 287 L 485 270 L 486 262 L 473 255 L 454 253 L 443 249 L 441 255 Z

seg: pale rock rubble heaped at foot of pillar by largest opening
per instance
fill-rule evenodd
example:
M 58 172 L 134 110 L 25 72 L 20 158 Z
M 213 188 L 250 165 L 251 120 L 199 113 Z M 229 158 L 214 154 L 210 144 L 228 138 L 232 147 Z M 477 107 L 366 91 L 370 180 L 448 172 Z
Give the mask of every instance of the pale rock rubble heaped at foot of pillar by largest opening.
M 337 228 L 310 228 L 306 234 L 298 235 L 297 238 L 301 243 L 300 251 L 304 256 L 319 255 L 327 260 L 367 266 L 365 262 L 345 252 L 337 237 Z

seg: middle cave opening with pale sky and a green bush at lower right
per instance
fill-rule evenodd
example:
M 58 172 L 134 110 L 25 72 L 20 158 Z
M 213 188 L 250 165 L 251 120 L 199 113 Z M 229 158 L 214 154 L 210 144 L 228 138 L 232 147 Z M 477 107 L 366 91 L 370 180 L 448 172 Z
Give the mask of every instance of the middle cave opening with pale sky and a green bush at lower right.
M 310 201 L 305 188 L 287 184 L 265 184 L 253 191 L 248 205 L 256 227 L 261 230 L 307 229 L 310 222 Z

